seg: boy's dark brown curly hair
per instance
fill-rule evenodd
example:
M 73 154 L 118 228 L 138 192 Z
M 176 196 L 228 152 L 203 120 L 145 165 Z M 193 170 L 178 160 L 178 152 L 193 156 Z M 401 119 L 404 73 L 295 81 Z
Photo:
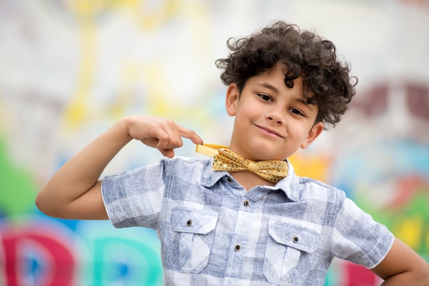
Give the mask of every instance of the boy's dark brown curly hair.
M 302 77 L 305 95 L 318 107 L 316 122 L 335 126 L 355 95 L 356 77 L 351 77 L 350 65 L 336 57 L 336 47 L 297 25 L 283 21 L 265 27 L 245 38 L 227 41 L 231 53 L 216 60 L 223 69 L 223 84 L 236 83 L 240 93 L 249 78 L 260 75 L 281 63 L 286 67 L 284 83 L 293 87 L 293 80 Z

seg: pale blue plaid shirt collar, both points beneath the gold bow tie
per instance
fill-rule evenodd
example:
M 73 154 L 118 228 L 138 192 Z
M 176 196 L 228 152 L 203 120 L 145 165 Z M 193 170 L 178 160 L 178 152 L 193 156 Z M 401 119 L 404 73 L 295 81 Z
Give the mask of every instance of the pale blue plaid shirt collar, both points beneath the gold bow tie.
M 201 184 L 203 187 L 213 187 L 217 181 L 221 180 L 224 176 L 229 176 L 228 171 L 213 171 L 212 170 L 212 160 L 210 160 L 210 164 L 207 164 L 206 169 L 204 170 L 203 177 L 201 178 Z M 267 190 L 281 190 L 287 195 L 287 197 L 293 201 L 298 202 L 300 200 L 300 192 L 298 189 L 299 178 L 295 174 L 293 170 L 293 166 L 289 160 L 288 163 L 288 176 L 275 184 L 274 186 L 265 186 L 264 188 Z

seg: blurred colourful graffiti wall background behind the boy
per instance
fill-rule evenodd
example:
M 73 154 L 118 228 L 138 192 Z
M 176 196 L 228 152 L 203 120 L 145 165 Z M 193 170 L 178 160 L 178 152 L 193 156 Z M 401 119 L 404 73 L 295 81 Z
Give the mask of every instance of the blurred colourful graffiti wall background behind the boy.
M 227 145 L 214 62 L 230 36 L 275 19 L 333 40 L 359 78 L 343 122 L 291 158 L 297 173 L 343 189 L 429 261 L 429 1 L 1 0 L 0 286 L 162 285 L 153 230 L 53 219 L 36 193 L 133 113 Z M 177 155 L 193 150 L 186 141 Z M 132 142 L 105 174 L 160 158 Z M 340 260 L 326 281 L 378 284 Z

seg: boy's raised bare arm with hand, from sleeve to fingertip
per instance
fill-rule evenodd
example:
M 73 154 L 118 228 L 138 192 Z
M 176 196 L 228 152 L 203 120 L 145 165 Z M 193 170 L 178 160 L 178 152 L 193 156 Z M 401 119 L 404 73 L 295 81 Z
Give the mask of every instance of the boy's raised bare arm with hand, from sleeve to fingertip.
M 66 219 L 107 219 L 99 177 L 110 160 L 132 139 L 172 158 L 182 137 L 203 143 L 193 130 L 169 119 L 132 115 L 114 124 L 67 161 L 45 184 L 37 198 L 40 211 Z

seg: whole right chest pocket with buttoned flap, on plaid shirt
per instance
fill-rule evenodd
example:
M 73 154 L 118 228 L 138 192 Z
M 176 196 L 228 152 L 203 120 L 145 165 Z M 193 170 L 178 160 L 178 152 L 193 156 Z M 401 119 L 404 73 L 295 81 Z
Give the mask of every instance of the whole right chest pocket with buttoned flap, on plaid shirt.
M 318 242 L 316 230 L 270 221 L 263 266 L 267 280 L 278 285 L 297 285 L 306 276 L 310 255 Z

